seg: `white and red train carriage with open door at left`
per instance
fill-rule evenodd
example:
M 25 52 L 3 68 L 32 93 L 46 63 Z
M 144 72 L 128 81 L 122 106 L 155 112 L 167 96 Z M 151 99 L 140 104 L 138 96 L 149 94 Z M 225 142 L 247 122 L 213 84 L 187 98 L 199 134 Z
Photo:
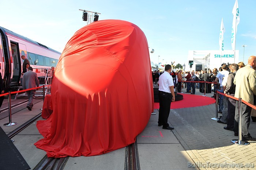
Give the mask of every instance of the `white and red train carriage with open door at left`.
M 44 76 L 37 68 L 55 67 L 61 53 L 43 44 L 0 27 L 0 72 L 4 80 L 5 91 L 15 88 L 22 76 L 23 60 L 29 60 L 38 76 Z

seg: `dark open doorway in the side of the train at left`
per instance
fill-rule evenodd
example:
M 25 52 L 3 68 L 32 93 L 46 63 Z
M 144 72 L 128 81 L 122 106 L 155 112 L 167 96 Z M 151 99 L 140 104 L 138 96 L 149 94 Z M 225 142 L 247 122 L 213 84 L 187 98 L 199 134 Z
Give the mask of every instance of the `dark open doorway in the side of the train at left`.
M 11 41 L 11 60 L 12 60 L 12 77 L 11 86 L 17 86 L 20 78 L 20 56 L 18 43 Z

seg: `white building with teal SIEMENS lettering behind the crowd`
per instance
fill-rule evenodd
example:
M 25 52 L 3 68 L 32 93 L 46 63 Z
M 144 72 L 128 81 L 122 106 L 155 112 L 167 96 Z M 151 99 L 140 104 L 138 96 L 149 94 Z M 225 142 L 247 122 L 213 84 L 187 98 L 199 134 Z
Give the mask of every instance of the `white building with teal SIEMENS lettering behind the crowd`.
M 213 68 L 221 67 L 223 63 L 232 64 L 238 63 L 239 50 L 234 52 L 233 50 L 206 50 L 206 51 L 188 51 L 188 62 L 185 63 L 185 71 L 195 70 L 195 71 L 208 71 L 213 70 Z M 189 61 L 193 61 L 192 67 L 189 66 Z

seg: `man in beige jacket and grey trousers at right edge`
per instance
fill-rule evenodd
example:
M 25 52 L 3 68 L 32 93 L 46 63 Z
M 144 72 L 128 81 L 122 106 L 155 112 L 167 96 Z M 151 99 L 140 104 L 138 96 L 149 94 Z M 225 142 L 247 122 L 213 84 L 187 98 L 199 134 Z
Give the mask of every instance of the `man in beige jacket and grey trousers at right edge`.
M 236 84 L 236 98 L 242 98 L 242 100 L 253 104 L 253 94 L 256 95 L 256 56 L 250 56 L 248 64 L 245 67 L 240 68 L 234 78 L 234 84 Z M 248 132 L 250 125 L 250 116 L 252 108 L 242 103 L 242 140 L 256 141 L 256 138 L 251 137 Z M 234 135 L 238 136 L 238 102 L 236 102 L 236 113 L 234 121 Z

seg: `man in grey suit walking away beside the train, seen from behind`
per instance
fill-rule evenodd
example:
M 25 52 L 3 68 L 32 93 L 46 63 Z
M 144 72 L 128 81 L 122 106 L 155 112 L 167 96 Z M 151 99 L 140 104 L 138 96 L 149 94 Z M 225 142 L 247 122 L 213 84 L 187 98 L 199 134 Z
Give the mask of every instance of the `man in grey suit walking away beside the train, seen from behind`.
M 33 72 L 33 68 L 29 67 L 28 71 L 23 74 L 22 88 L 23 90 L 39 87 L 39 80 L 37 74 Z M 33 100 L 35 98 L 35 89 L 27 91 L 27 96 L 29 97 L 29 102 L 27 103 L 27 109 L 32 110 Z

